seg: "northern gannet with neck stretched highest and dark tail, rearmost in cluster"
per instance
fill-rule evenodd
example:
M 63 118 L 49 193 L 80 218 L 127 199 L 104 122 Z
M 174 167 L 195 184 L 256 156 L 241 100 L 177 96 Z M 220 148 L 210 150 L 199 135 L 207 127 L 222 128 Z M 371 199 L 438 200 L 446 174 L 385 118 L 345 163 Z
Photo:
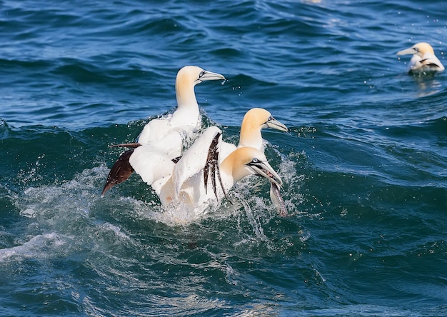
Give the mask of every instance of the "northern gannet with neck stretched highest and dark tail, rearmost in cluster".
M 126 181 L 131 176 L 134 171 L 132 162 L 144 158 L 141 154 L 154 155 L 155 158 L 175 158 L 181 155 L 184 139 L 200 126 L 199 104 L 197 104 L 194 86 L 202 81 L 211 80 L 225 80 L 225 77 L 197 66 L 184 66 L 179 70 L 176 76 L 176 111 L 170 116 L 149 121 L 141 131 L 137 143 L 117 145 L 134 149 L 125 151 L 114 163 L 107 176 L 102 196 L 110 188 Z M 158 165 L 150 165 L 155 161 L 153 162 L 151 158 L 144 159 L 147 164 L 146 177 L 150 173 L 154 173 L 153 178 L 161 175 L 162 170 Z

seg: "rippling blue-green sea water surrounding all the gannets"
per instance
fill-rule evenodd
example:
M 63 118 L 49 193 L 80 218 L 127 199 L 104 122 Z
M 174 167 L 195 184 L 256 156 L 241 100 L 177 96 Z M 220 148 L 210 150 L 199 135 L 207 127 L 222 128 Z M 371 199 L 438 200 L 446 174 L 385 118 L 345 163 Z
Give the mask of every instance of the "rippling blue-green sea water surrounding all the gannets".
M 447 315 L 447 74 L 396 56 L 447 64 L 445 1 L 2 0 L 0 32 L 1 316 Z M 228 79 L 204 126 L 290 128 L 288 217 L 258 178 L 201 218 L 137 175 L 101 198 L 188 64 Z

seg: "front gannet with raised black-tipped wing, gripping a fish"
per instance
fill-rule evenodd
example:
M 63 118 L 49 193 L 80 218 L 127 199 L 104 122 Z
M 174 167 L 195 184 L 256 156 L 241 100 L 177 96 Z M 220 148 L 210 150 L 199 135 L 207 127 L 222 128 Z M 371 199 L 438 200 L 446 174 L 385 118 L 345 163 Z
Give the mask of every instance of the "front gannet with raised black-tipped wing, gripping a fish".
M 281 178 L 258 149 L 238 148 L 219 163 L 221 133 L 216 126 L 206 129 L 180 160 L 172 164 L 174 169 L 169 181 L 153 186 L 164 206 L 181 203 L 201 213 L 209 203 L 226 196 L 237 181 L 248 175 L 263 176 L 276 186 L 282 186 Z M 139 172 L 137 168 L 136 172 Z M 212 191 L 208 190 L 210 182 Z

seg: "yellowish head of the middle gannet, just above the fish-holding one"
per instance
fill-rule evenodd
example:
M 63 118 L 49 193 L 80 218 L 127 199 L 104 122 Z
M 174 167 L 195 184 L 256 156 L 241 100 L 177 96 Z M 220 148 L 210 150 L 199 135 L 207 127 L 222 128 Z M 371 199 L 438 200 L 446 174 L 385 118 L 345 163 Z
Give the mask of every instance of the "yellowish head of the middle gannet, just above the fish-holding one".
M 271 128 L 280 131 L 287 131 L 287 127 L 266 111 L 266 109 L 253 108 L 243 116 L 241 124 L 241 135 L 239 146 L 251 146 L 255 149 L 262 149 L 261 129 Z

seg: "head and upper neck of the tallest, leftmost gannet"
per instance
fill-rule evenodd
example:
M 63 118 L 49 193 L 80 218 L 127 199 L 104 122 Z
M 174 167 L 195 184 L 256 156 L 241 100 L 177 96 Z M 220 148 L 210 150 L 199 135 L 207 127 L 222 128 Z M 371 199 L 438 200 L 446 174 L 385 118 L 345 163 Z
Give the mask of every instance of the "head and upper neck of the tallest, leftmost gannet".
M 184 66 L 176 77 L 177 106 L 197 104 L 194 86 L 202 81 L 225 80 L 221 74 L 206 71 L 198 66 Z

